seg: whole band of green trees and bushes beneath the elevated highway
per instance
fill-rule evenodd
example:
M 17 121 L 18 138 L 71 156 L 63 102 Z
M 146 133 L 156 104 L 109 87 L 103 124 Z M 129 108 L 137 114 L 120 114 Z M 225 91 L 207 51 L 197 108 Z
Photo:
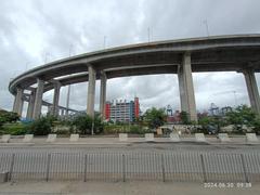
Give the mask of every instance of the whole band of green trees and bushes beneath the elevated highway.
M 204 116 L 198 123 L 188 120 L 188 114 L 182 112 L 181 125 L 193 126 L 192 132 L 219 133 L 223 128 L 231 126 L 233 133 L 256 132 L 260 134 L 260 118 L 250 107 L 237 106 L 224 116 Z M 156 132 L 156 129 L 166 123 L 167 116 L 162 108 L 151 108 L 135 119 L 133 122 L 103 121 L 100 115 L 93 118 L 88 115 L 79 115 L 70 119 L 61 119 L 53 116 L 43 116 L 30 122 L 21 122 L 17 114 L 0 110 L 0 134 L 22 135 L 32 133 L 35 135 L 47 135 L 49 133 L 81 135 L 92 134 L 117 134 L 131 133 L 144 134 Z

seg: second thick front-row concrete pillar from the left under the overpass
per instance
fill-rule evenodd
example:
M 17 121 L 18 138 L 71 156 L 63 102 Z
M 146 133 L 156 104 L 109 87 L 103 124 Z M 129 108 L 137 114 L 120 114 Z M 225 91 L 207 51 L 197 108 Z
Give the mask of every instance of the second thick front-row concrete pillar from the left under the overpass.
M 38 119 L 41 115 L 41 104 L 42 104 L 44 81 L 38 78 L 37 83 L 38 83 L 38 87 L 36 90 L 36 99 L 35 99 L 34 112 L 32 112 L 32 119 Z

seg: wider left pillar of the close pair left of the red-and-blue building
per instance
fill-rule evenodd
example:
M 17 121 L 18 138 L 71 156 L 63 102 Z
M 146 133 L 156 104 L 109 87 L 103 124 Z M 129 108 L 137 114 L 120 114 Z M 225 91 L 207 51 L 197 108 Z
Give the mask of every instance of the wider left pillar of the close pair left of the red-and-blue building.
M 87 114 L 91 117 L 94 116 L 94 98 L 95 98 L 95 69 L 92 65 L 89 66 L 89 88 L 88 88 L 88 104 Z

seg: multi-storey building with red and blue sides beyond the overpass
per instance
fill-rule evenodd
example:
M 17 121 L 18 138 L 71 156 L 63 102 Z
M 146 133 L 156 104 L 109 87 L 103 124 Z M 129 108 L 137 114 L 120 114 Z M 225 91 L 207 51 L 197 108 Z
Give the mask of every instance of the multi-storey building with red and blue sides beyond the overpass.
M 105 105 L 105 118 L 106 120 L 132 122 L 140 117 L 140 104 L 139 98 L 134 98 L 134 101 L 127 102 L 113 101 L 106 102 Z

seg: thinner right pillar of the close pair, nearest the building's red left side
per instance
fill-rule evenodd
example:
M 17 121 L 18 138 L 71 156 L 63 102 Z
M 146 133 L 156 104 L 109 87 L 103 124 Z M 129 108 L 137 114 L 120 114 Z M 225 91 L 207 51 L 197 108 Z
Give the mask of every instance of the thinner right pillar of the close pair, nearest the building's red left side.
M 105 118 L 105 102 L 106 102 L 106 74 L 105 72 L 101 72 L 100 113 L 103 119 Z

